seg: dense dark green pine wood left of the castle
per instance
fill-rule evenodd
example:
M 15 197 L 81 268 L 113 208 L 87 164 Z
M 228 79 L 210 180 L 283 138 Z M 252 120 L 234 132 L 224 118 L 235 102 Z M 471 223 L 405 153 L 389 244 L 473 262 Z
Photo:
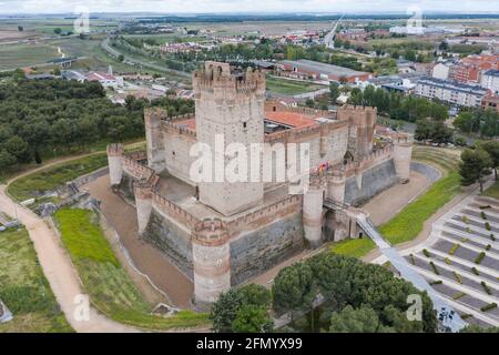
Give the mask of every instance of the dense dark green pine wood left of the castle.
M 0 170 L 35 161 L 43 153 L 84 149 L 106 140 L 144 134 L 146 105 L 170 115 L 193 112 L 191 100 L 163 98 L 152 103 L 126 98 L 114 104 L 99 82 L 17 79 L 0 83 Z

